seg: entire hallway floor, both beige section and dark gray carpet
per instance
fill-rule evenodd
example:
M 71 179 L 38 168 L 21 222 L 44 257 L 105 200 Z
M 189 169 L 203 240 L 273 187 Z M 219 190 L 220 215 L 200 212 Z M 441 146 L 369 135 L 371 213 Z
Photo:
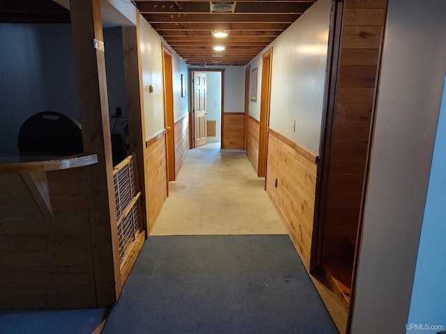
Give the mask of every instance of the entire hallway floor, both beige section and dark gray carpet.
M 189 150 L 102 333 L 338 333 L 263 182 Z

